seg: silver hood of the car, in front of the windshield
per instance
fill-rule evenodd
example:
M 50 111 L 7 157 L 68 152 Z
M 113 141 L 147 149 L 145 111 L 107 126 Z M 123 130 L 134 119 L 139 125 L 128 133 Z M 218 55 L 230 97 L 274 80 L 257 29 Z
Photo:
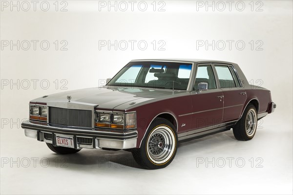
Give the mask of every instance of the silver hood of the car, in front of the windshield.
M 182 91 L 183 92 L 183 91 Z M 176 91 L 175 94 L 182 93 Z M 184 91 L 186 92 L 186 91 Z M 71 96 L 70 103 L 68 103 L 67 96 Z M 165 96 L 172 96 L 174 93 L 172 90 L 166 89 L 142 89 L 138 87 L 125 87 L 125 88 L 113 88 L 113 87 L 94 87 L 85 88 L 73 91 L 66 91 L 48 95 L 47 97 L 40 97 L 30 101 L 31 103 L 42 102 L 50 105 L 58 105 L 58 103 L 66 103 L 70 105 L 86 104 L 92 106 L 98 106 L 99 108 L 114 109 L 127 109 L 135 106 L 136 101 L 142 104 L 142 102 L 148 102 L 156 98 L 162 98 Z M 126 104 L 127 103 L 127 104 Z M 124 106 L 121 106 L 124 105 Z

